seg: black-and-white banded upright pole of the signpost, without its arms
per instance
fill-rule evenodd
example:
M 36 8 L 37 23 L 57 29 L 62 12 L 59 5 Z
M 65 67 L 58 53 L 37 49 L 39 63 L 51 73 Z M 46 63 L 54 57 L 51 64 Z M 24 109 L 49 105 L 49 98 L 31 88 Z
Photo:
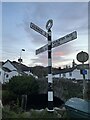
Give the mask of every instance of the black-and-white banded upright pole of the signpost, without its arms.
M 48 29 L 48 111 L 53 111 L 53 80 L 52 80 L 52 41 L 51 30 Z

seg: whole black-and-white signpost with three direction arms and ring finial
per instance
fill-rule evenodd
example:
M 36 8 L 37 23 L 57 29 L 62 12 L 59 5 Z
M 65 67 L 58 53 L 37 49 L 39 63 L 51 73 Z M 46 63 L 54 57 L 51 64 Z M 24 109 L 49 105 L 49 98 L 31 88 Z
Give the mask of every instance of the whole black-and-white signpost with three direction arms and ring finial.
M 53 110 L 53 80 L 52 80 L 52 48 L 57 47 L 59 45 L 65 44 L 69 41 L 72 41 L 77 38 L 77 32 L 74 31 L 66 36 L 59 38 L 55 41 L 51 39 L 51 28 L 53 26 L 53 20 L 48 20 L 46 24 L 46 29 L 48 32 L 45 32 L 40 27 L 35 25 L 34 23 L 30 23 L 30 28 L 40 33 L 44 37 L 48 39 L 48 44 L 36 50 L 36 55 L 40 54 L 46 50 L 48 50 L 48 111 L 52 112 Z

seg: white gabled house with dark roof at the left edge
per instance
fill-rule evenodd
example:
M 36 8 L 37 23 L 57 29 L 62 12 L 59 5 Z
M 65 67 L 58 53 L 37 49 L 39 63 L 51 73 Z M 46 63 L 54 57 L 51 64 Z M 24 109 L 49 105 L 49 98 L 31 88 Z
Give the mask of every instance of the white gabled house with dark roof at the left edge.
M 16 61 L 7 60 L 3 65 L 0 67 L 0 82 L 5 83 L 8 82 L 13 76 L 18 75 L 32 75 L 35 78 L 37 76 L 33 75 L 30 72 L 30 67 L 20 64 Z

